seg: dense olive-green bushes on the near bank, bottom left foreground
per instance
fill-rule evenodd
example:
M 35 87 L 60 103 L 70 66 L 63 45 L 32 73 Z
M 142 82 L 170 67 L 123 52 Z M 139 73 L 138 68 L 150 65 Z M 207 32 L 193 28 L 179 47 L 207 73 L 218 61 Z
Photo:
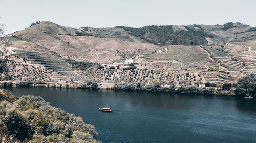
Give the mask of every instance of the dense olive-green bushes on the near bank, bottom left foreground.
M 2 142 L 98 142 L 92 125 L 66 113 L 39 96 L 0 91 L 0 140 Z

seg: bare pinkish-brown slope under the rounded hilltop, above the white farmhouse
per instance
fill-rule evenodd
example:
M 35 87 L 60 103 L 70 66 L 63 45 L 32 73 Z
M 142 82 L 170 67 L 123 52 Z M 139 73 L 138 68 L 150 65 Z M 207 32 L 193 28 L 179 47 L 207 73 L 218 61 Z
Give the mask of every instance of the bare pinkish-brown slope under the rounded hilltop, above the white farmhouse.
M 41 27 L 41 28 L 40 28 Z M 12 35 L 32 42 L 59 54 L 62 58 L 77 61 L 112 62 L 127 58 L 130 54 L 156 46 L 140 41 L 130 42 L 118 38 L 75 36 L 78 30 L 50 22 L 41 22 Z M 118 52 L 127 52 L 121 55 Z

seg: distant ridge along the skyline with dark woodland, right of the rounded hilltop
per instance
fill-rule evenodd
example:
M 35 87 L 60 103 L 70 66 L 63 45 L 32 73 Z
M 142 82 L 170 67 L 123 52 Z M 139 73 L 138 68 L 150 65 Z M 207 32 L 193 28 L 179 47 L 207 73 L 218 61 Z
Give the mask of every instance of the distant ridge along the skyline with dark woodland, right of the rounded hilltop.
M 204 45 L 220 42 L 239 42 L 256 39 L 254 27 L 239 22 L 224 25 L 145 26 L 141 28 L 116 26 L 115 28 L 79 28 L 79 35 L 101 38 L 121 38 L 129 41 L 165 45 Z

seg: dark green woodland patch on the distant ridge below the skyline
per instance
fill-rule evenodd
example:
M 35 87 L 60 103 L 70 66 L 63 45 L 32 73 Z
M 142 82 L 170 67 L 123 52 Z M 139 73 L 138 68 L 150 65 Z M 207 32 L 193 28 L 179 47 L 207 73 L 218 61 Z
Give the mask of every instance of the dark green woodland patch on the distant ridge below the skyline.
M 204 32 L 201 26 L 197 26 L 199 30 L 184 26 L 186 30 L 174 31 L 172 26 L 145 26 L 142 28 L 132 28 L 117 26 L 123 28 L 129 34 L 140 37 L 143 40 L 156 44 L 164 45 L 198 45 L 206 44 L 208 41 L 205 37 L 212 37 Z

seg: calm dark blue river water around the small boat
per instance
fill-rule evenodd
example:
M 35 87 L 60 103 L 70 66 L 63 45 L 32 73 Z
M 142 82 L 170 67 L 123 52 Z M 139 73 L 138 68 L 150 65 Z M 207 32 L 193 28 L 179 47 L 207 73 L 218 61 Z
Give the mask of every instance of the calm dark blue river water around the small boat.
M 111 90 L 9 88 L 96 127 L 102 142 L 256 142 L 256 100 Z M 115 111 L 104 113 L 108 105 Z

